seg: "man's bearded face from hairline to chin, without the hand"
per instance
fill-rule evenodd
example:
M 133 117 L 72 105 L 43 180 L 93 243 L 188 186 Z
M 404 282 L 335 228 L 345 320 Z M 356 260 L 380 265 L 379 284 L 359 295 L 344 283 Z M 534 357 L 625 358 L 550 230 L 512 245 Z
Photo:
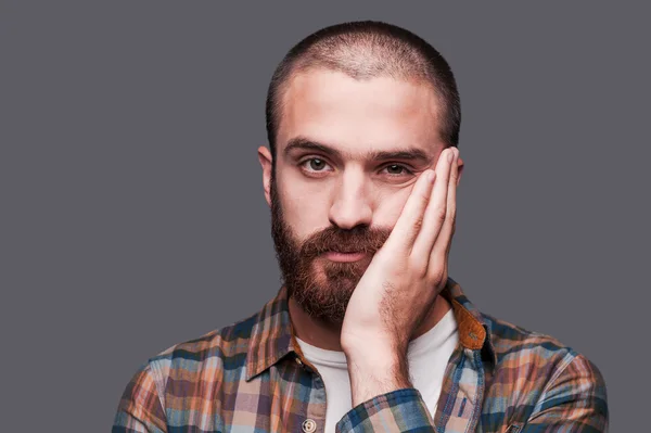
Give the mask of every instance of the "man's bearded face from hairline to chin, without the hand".
M 282 277 L 307 314 L 341 324 L 418 176 L 444 149 L 437 99 L 425 84 L 319 68 L 293 77 L 283 102 L 276 176 L 260 157 Z

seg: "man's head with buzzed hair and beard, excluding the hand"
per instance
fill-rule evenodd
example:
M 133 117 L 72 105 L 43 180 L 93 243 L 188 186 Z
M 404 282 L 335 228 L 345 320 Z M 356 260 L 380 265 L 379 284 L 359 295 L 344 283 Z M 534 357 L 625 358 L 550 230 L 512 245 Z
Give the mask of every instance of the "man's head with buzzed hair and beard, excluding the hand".
M 447 62 L 400 27 L 337 24 L 284 56 L 258 152 L 282 280 L 306 316 L 341 327 L 411 186 L 457 145 L 459 124 Z

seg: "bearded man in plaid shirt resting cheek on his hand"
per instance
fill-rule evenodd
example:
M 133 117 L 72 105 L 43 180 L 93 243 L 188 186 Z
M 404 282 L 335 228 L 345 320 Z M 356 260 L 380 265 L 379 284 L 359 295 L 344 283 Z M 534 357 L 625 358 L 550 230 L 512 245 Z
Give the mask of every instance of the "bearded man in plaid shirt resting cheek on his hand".
M 446 61 L 378 22 L 278 66 L 258 149 L 283 284 L 145 362 L 114 432 L 603 432 L 598 369 L 448 277 L 460 109 Z

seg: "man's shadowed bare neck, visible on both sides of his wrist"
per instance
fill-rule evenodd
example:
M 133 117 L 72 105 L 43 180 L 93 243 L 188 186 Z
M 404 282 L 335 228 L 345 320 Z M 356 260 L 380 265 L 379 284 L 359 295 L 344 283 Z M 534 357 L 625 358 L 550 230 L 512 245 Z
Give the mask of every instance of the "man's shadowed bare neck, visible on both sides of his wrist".
M 329 323 L 309 316 L 291 296 L 289 298 L 289 308 L 294 333 L 298 339 L 326 351 L 343 352 L 341 345 L 341 323 Z M 436 296 L 427 316 L 425 316 L 421 324 L 417 328 L 411 339 L 418 339 L 434 328 L 450 308 L 450 303 L 445 297 L 441 295 Z

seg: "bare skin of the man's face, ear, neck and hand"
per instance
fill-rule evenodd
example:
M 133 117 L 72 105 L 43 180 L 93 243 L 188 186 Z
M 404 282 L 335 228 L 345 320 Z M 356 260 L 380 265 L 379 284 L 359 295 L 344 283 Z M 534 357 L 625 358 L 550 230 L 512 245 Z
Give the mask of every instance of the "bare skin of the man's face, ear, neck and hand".
M 438 293 L 447 280 L 456 188 L 463 168 L 458 150 L 445 149 L 439 138 L 437 99 L 423 82 L 355 80 L 321 68 L 294 76 L 283 99 L 276 182 L 294 233 L 306 239 L 333 225 L 392 229 L 382 247 L 362 259 L 368 266 L 342 323 L 317 320 L 290 298 L 296 334 L 309 344 L 345 353 L 354 406 L 411 387 L 408 343 L 450 308 Z M 340 154 L 285 152 L 296 138 Z M 425 160 L 368 157 L 373 151 L 407 149 L 421 151 Z M 260 147 L 258 158 L 271 205 L 272 155 Z M 326 259 L 316 260 L 317 269 Z

